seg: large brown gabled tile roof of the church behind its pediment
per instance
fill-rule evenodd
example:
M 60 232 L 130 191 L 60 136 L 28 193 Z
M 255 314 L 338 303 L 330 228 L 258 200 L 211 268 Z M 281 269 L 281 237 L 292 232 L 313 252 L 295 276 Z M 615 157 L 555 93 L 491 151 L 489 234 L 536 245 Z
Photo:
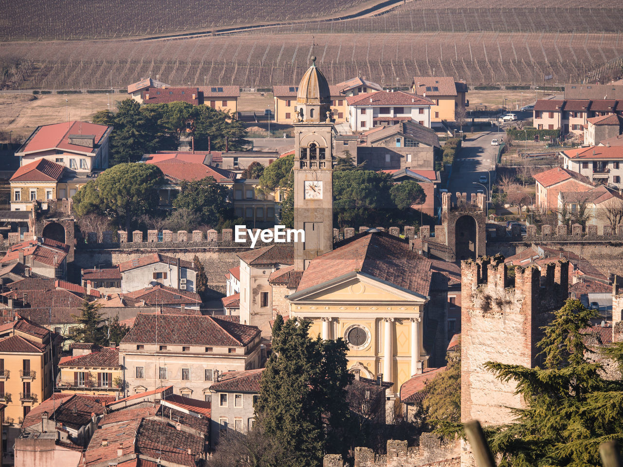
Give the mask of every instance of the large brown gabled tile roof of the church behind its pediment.
M 302 291 L 352 271 L 371 275 L 398 287 L 428 296 L 432 263 L 409 250 L 403 240 L 384 232 L 364 232 L 336 245 L 310 262 L 298 285 Z

